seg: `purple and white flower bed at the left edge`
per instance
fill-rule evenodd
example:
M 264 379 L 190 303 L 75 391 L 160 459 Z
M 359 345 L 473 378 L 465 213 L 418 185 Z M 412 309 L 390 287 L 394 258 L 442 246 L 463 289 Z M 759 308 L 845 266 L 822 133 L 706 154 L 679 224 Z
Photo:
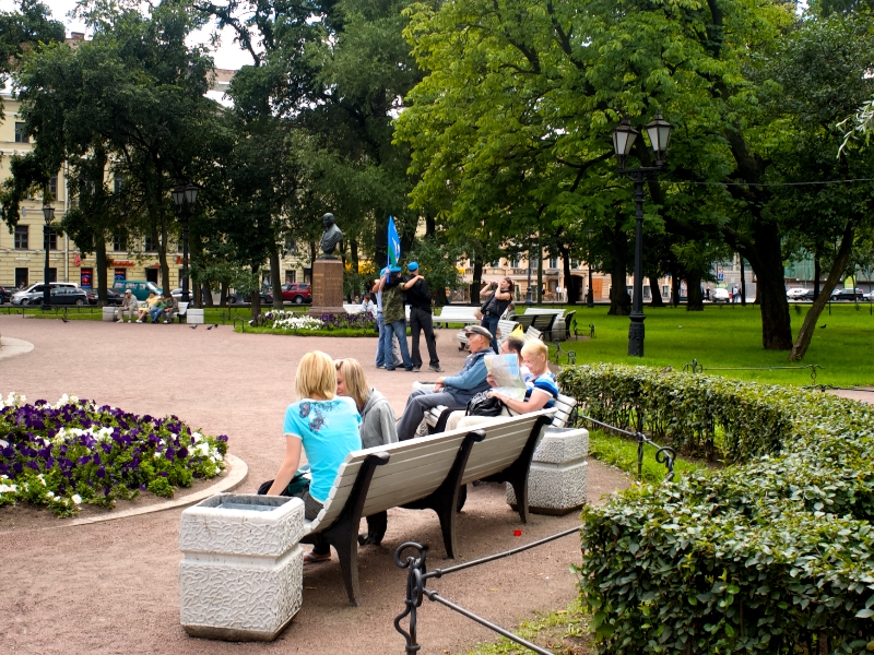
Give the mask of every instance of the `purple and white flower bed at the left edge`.
M 64 396 L 25 404 L 0 396 L 0 507 L 27 501 L 70 516 L 82 502 L 111 508 L 149 490 L 212 478 L 225 468 L 227 437 L 192 431 L 175 416 L 137 416 Z

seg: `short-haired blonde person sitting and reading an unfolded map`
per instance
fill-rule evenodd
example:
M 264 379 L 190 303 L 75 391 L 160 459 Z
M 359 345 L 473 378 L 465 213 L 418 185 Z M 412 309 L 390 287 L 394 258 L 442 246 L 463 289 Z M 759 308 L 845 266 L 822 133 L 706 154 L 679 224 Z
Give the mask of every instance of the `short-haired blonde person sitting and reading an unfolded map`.
M 538 409 L 550 409 L 558 398 L 558 384 L 555 376 L 550 371 L 550 348 L 540 341 L 530 341 L 522 346 L 522 361 L 531 371 L 525 378 L 525 397 L 522 401 L 507 397 L 496 391 L 488 392 L 489 396 L 499 398 L 504 403 L 501 416 L 512 414 L 528 414 Z M 494 386 L 494 379 L 488 377 L 488 382 Z M 511 414 L 512 413 L 512 414 Z M 494 416 L 465 416 L 465 412 L 452 412 L 446 421 L 447 430 L 468 428 L 477 424 L 494 420 Z

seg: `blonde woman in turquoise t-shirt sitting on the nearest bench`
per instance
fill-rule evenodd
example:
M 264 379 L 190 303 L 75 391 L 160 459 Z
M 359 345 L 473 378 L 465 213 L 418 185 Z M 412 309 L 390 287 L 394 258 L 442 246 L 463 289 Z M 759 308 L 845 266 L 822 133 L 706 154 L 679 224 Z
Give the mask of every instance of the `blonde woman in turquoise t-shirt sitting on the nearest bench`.
M 299 400 L 285 410 L 285 460 L 267 493 L 283 495 L 297 473 L 303 448 L 312 480 L 309 488 L 295 495 L 304 501 L 307 521 L 312 521 L 328 500 L 346 455 L 362 448 L 358 433 L 362 417 L 355 401 L 336 395 L 336 369 L 326 353 L 315 350 L 304 355 L 294 386 Z M 329 559 L 331 549 L 327 544 L 317 544 L 304 555 L 306 562 Z

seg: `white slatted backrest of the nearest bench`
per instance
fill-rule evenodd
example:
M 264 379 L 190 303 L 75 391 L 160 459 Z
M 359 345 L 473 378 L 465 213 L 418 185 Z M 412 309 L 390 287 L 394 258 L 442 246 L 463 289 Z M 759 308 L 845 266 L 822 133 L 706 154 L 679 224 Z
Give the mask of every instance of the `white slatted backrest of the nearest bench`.
M 486 471 L 487 473 L 479 477 L 497 473 L 509 466 L 521 453 L 536 417 L 545 412 L 553 410 L 523 414 L 486 426 L 477 426 L 485 430 L 486 438 L 482 443 L 474 445 L 471 457 L 477 446 L 488 443 L 488 448 L 482 451 L 476 460 L 476 471 Z M 350 499 L 363 462 L 373 453 L 388 453 L 389 462 L 377 466 L 374 472 L 362 511 L 363 516 L 425 498 L 435 491 L 449 475 L 461 442 L 469 431 L 470 429 L 461 428 L 350 453 L 346 455 L 345 462 L 340 465 L 324 509 L 309 524 L 309 531 L 318 532 L 319 525 L 327 527 L 336 521 Z M 471 468 L 470 462 L 471 460 L 468 463 L 469 469 Z M 471 479 L 479 479 L 479 477 Z

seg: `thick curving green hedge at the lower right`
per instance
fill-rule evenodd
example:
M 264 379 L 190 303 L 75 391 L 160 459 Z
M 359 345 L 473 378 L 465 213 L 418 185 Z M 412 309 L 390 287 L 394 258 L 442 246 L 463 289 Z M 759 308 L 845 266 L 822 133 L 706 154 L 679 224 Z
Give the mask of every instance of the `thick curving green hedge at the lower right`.
M 584 414 L 732 462 L 583 511 L 600 652 L 874 650 L 874 407 L 643 367 L 559 383 Z

